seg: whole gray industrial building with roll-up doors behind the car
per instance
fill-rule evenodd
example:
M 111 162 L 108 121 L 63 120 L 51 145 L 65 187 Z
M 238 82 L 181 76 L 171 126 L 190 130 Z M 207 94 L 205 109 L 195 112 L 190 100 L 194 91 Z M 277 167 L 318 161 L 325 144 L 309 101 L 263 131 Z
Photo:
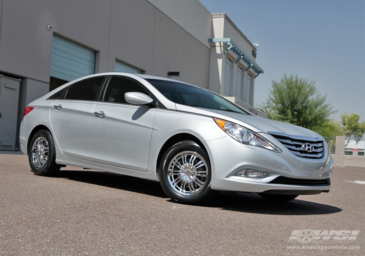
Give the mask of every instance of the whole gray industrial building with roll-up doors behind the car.
M 253 107 L 256 47 L 199 0 L 0 0 L 0 150 L 18 150 L 32 100 L 111 71 L 192 83 L 265 116 Z

